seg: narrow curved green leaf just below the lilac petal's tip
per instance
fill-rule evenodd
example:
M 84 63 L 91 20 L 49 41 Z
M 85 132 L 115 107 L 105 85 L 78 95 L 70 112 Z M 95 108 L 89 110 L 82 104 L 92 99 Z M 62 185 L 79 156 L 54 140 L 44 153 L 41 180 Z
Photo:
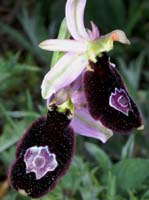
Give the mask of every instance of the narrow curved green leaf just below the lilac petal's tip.
M 85 143 L 85 148 L 94 157 L 97 164 L 101 167 L 103 172 L 107 172 L 111 168 L 111 161 L 108 155 L 97 145 L 92 143 Z

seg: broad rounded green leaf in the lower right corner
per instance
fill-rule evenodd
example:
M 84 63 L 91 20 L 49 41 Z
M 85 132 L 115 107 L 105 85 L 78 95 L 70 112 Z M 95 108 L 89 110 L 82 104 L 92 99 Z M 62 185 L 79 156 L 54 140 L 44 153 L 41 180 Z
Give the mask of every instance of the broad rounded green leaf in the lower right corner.
M 149 176 L 149 159 L 125 159 L 112 167 L 117 187 L 127 191 L 142 185 Z

